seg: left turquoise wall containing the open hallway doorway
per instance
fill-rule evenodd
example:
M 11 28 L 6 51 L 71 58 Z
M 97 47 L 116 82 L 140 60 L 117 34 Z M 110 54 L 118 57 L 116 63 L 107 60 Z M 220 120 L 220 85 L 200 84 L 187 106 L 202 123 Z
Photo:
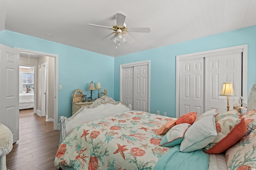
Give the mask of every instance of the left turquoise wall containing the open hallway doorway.
M 32 51 L 56 54 L 59 59 L 58 115 L 71 116 L 71 102 L 74 90 L 80 88 L 89 95 L 89 83 L 100 82 L 102 89 L 108 89 L 108 96 L 114 96 L 114 58 L 90 51 L 70 47 L 52 41 L 15 33 L 0 31 L 0 43 Z M 104 64 L 102 64 L 104 63 Z M 94 91 L 98 96 L 98 91 Z

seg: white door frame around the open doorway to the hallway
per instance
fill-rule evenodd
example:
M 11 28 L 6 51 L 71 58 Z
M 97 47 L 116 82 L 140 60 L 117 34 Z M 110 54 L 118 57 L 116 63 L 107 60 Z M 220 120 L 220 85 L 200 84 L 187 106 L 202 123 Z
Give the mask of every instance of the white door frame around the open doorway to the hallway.
M 48 57 L 54 57 L 55 62 L 54 62 L 54 67 L 55 67 L 55 80 L 54 80 L 54 130 L 58 130 L 58 70 L 59 70 L 59 55 L 56 54 L 50 54 L 50 53 L 44 53 L 40 51 L 32 51 L 28 49 L 21 49 L 14 47 L 14 49 L 17 49 L 21 52 L 26 52 L 26 53 L 34 53 L 38 55 L 45 55 Z

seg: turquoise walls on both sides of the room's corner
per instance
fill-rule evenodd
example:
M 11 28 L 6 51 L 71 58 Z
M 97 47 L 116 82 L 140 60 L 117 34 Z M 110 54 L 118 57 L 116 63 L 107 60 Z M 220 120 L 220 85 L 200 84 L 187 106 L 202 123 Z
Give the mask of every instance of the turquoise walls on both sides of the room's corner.
M 115 58 L 7 30 L 0 31 L 0 43 L 59 56 L 59 116 L 70 117 L 74 90 L 89 94 L 90 81 L 101 82 L 118 101 L 120 64 L 150 60 L 150 112 L 170 117 L 176 111 L 176 55 L 248 44 L 248 90 L 256 83 L 256 25 Z

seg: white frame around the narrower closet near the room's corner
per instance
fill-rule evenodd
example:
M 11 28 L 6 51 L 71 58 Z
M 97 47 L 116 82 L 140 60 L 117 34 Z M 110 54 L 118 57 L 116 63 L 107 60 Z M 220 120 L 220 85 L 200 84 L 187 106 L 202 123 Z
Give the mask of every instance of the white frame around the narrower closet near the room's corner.
M 144 65 L 148 65 L 148 112 L 150 112 L 150 60 L 139 61 L 139 62 L 128 63 L 128 64 L 120 64 L 119 98 L 120 98 L 120 102 L 122 102 L 122 70 L 123 70 L 123 68 L 134 67 L 134 66 L 144 66 Z

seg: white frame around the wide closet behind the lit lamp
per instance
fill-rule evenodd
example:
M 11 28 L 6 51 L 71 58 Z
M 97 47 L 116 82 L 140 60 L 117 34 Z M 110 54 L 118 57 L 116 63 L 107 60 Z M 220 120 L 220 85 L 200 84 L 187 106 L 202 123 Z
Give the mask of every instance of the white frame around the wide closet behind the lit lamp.
M 210 57 L 215 55 L 214 53 L 228 53 L 230 50 L 236 50 L 236 49 L 242 49 L 242 82 L 244 82 L 244 85 L 242 86 L 242 93 L 243 93 L 243 99 L 245 103 L 247 103 L 247 84 L 248 84 L 248 45 L 238 45 L 234 47 L 227 47 L 227 48 L 221 48 L 221 49 L 214 49 L 214 50 L 208 50 L 208 51 L 201 51 L 196 53 L 190 53 L 185 55 L 177 55 L 176 56 L 176 117 L 179 116 L 179 101 L 180 101 L 180 60 L 188 60 L 188 59 L 196 59 L 201 57 Z M 206 56 L 207 55 L 207 56 Z

